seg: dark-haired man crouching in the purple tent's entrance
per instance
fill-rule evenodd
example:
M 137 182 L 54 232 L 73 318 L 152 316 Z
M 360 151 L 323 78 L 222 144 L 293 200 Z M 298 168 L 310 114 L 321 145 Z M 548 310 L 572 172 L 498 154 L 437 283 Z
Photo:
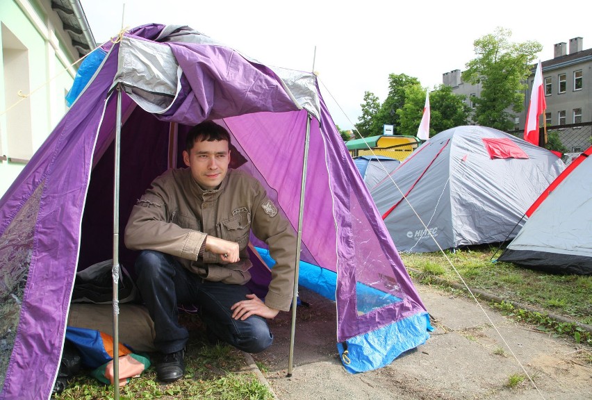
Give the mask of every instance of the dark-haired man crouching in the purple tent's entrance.
M 257 353 L 272 344 L 266 319 L 288 311 L 292 302 L 295 233 L 261 183 L 229 170 L 229 144 L 222 126 L 194 126 L 183 151 L 187 168 L 154 179 L 125 229 L 126 247 L 141 250 L 135 272 L 154 321 L 154 345 L 162 353 L 156 373 L 163 382 L 185 372 L 188 331 L 179 324 L 177 304 L 199 306 L 212 342 Z M 251 231 L 277 261 L 265 302 L 245 286 Z

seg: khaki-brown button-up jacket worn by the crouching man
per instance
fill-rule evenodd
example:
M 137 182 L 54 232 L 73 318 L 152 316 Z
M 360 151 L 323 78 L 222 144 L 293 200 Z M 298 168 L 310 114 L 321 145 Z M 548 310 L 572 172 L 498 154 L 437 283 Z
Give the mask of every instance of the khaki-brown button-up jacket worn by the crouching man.
M 190 169 L 170 169 L 158 176 L 133 206 L 125 229 L 126 247 L 156 250 L 208 281 L 244 285 L 251 278 L 247 244 L 249 233 L 268 244 L 277 264 L 265 305 L 288 311 L 293 298 L 296 236 L 267 197 L 259 181 L 229 169 L 217 190 L 202 190 Z M 198 258 L 207 235 L 237 242 L 238 263 L 226 263 L 206 251 Z

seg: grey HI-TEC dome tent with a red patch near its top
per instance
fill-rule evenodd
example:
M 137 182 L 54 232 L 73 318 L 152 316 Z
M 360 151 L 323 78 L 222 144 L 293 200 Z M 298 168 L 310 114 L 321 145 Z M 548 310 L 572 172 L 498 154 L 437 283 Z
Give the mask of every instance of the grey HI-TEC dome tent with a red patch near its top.
M 510 240 L 564 168 L 550 151 L 508 133 L 457 126 L 406 158 L 391 174 L 396 186 L 388 179 L 370 194 L 397 250 L 437 251 Z

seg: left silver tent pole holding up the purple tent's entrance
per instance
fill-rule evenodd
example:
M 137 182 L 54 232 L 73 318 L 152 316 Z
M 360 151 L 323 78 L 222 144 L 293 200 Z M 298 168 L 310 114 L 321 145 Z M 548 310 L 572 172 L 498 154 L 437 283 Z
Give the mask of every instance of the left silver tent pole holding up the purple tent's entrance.
M 115 166 L 113 178 L 113 397 L 120 398 L 120 158 L 122 136 L 122 87 L 117 86 L 117 117 L 115 119 Z

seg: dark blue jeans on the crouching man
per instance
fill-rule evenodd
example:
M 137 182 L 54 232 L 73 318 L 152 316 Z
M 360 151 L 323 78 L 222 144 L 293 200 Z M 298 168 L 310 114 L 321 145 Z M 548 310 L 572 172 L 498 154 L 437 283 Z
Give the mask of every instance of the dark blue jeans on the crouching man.
M 199 306 L 208 335 L 239 350 L 258 353 L 272 344 L 265 318 L 232 318 L 231 306 L 250 293 L 246 286 L 206 281 L 160 251 L 142 251 L 135 260 L 135 272 L 138 289 L 154 321 L 154 346 L 162 353 L 183 349 L 189 338 L 187 328 L 179 324 L 177 304 Z

